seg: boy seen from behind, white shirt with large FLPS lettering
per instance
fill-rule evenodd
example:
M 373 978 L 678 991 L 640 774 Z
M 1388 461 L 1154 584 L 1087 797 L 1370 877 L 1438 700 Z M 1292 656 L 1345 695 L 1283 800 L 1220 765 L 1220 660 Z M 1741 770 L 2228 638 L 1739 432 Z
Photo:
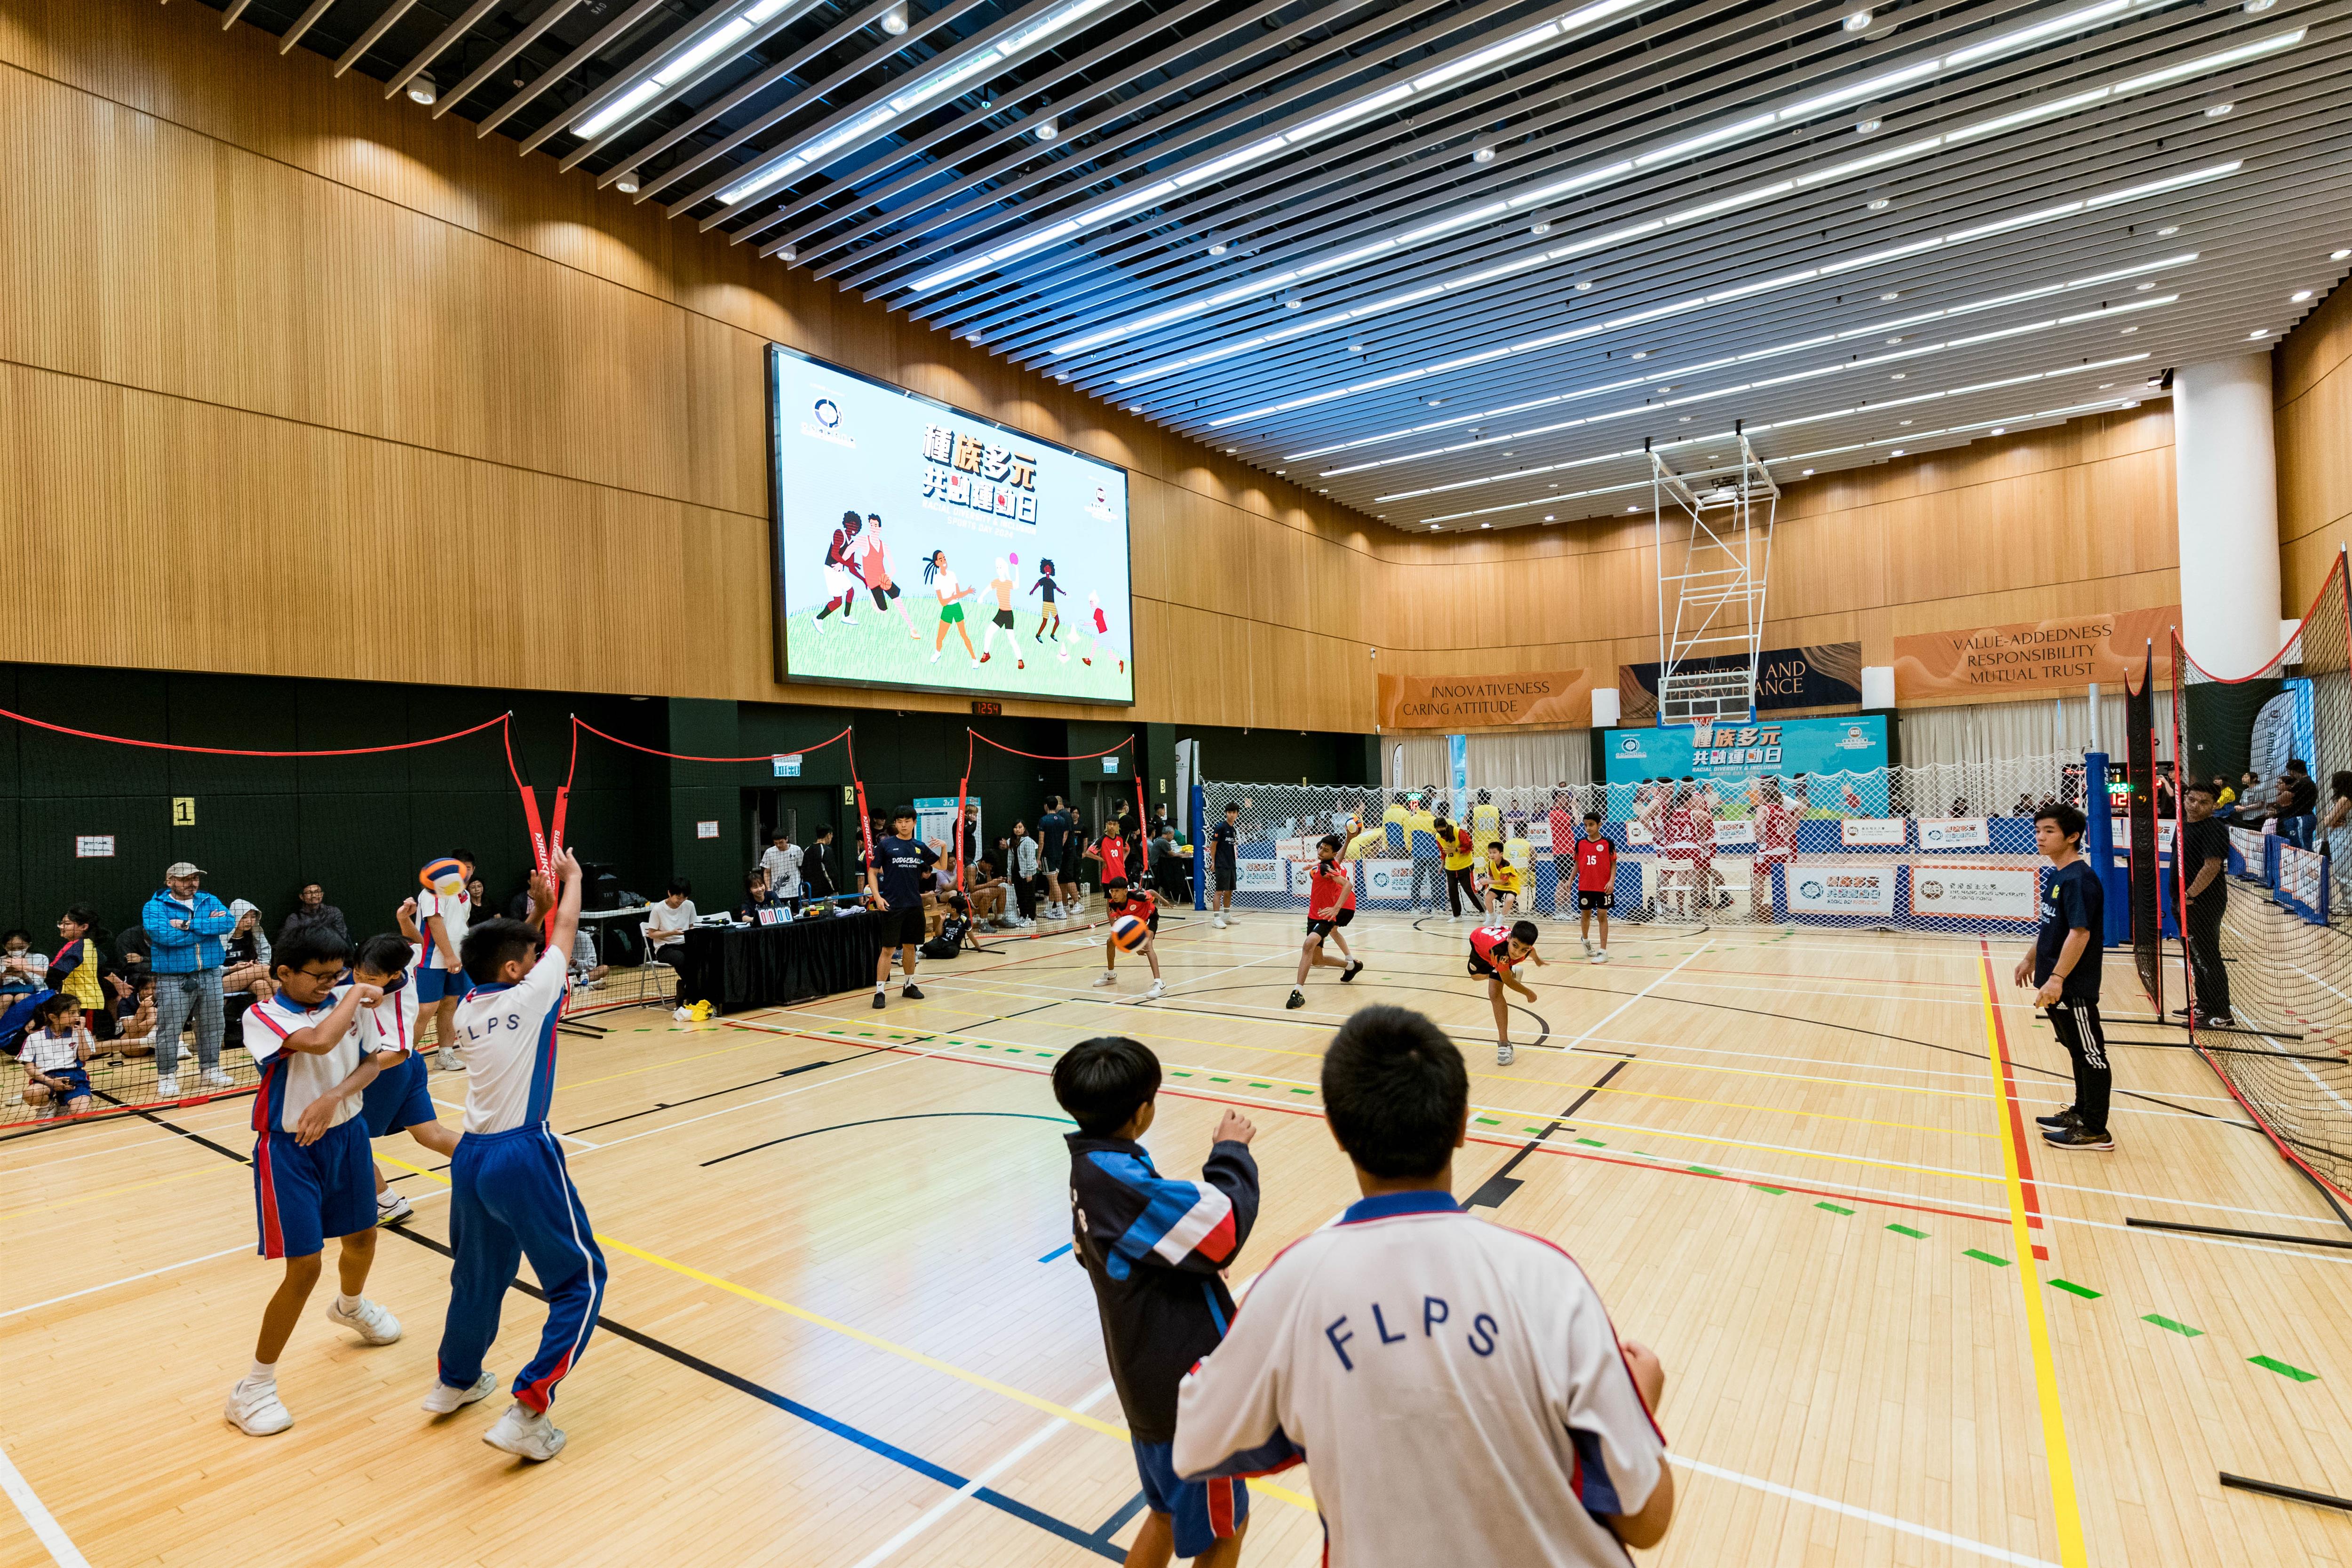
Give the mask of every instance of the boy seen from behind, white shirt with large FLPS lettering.
M 1675 1512 L 1658 1356 L 1573 1258 L 1454 1201 L 1470 1074 L 1435 1023 L 1359 1011 L 1322 1093 L 1364 1201 L 1277 1255 L 1178 1385 L 1176 1474 L 1315 1455 L 1331 1568 L 1625 1568 Z

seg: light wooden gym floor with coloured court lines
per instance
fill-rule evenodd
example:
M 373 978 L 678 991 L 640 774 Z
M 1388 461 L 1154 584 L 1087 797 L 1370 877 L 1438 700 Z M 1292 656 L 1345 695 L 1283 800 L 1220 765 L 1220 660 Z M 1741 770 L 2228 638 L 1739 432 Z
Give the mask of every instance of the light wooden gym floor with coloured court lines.
M 1284 1013 L 1296 931 L 1171 922 L 1162 1004 L 1134 1004 L 1136 961 L 1117 997 L 1089 990 L 1096 931 L 924 964 L 929 999 L 887 1013 L 630 1009 L 567 1037 L 555 1126 L 612 1286 L 543 1467 L 475 1441 L 503 1396 L 416 1410 L 447 1190 L 407 1138 L 376 1152 L 416 1218 L 369 1284 L 407 1338 L 350 1342 L 318 1321 L 322 1286 L 273 1439 L 219 1413 L 278 1276 L 252 1255 L 249 1100 L 0 1143 L 0 1448 L 21 1474 L 0 1469 L 0 1563 L 1117 1561 L 1136 1474 L 1042 1074 L 1089 1034 L 1150 1044 L 1171 1173 L 1197 1171 L 1223 1105 L 1256 1117 L 1240 1281 L 1355 1197 L 1315 1079 L 1367 1001 L 1465 1046 L 1458 1192 L 1576 1253 L 1665 1359 L 1679 1509 L 1644 1561 L 2352 1563 L 2352 1516 L 2216 1483 L 2352 1490 L 2352 1253 L 2124 1227 L 2331 1234 L 2185 1051 L 2117 1046 L 2114 1154 L 2020 1140 L 2067 1093 L 2006 985 L 2013 945 L 1621 926 L 1599 969 L 1552 926 L 1498 1070 L 1465 926 L 1367 917 L 1369 971 L 1319 971 Z M 2110 1011 L 2136 1011 L 2107 966 Z M 454 1117 L 461 1079 L 433 1084 Z M 510 1300 L 501 1375 L 539 1319 Z M 1244 1561 L 1312 1563 L 1312 1476 L 1277 1481 Z

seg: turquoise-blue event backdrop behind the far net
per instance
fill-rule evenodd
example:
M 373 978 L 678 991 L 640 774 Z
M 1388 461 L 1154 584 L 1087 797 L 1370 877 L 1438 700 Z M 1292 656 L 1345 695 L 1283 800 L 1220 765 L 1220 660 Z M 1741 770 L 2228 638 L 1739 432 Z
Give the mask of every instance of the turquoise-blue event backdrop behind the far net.
M 1886 811 L 1886 715 L 1856 719 L 1780 719 L 1764 724 L 1672 724 L 1604 731 L 1606 780 L 1698 778 L 1738 799 L 1750 778 L 1780 778 L 1802 795 L 1799 811 L 1882 816 Z M 1792 780 L 1804 778 L 1797 790 Z M 1611 816 L 1625 816 L 1630 790 L 1611 790 Z M 1795 804 L 1795 802 L 1792 802 Z

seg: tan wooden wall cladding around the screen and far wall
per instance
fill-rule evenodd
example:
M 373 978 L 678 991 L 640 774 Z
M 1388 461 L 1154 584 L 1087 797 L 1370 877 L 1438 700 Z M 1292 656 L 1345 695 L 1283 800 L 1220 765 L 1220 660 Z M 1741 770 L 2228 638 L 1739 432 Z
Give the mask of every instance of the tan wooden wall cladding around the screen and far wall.
M 0 548 L 94 607 L 12 604 L 0 658 L 873 705 L 771 679 L 771 339 L 1131 470 L 1138 703 L 1096 717 L 1371 729 L 1383 670 L 1656 656 L 1646 512 L 1392 531 L 202 7 L 9 0 L 0 158 Z M 2347 360 L 2343 299 L 2279 348 L 2298 607 Z M 1799 482 L 1769 639 L 2171 604 L 2169 442 L 2150 404 Z

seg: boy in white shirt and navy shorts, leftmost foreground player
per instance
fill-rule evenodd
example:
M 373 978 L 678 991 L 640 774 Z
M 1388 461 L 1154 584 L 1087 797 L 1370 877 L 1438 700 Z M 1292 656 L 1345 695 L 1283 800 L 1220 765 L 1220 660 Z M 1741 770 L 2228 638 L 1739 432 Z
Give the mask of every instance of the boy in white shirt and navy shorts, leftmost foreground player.
M 294 1425 L 278 1399 L 278 1356 L 318 1284 L 327 1237 L 341 1237 L 341 1293 L 327 1321 L 355 1328 L 369 1345 L 400 1338 L 400 1321 L 367 1300 L 376 1260 L 374 1171 L 360 1093 L 376 1065 L 360 1051 L 358 1013 L 374 1006 L 374 985 L 339 985 L 350 943 L 327 926 L 306 926 L 270 954 L 278 994 L 245 1013 L 245 1048 L 261 1067 L 254 1093 L 254 1215 L 261 1255 L 285 1258 L 287 1272 L 261 1314 L 254 1366 L 228 1392 L 223 1415 L 247 1436 Z

